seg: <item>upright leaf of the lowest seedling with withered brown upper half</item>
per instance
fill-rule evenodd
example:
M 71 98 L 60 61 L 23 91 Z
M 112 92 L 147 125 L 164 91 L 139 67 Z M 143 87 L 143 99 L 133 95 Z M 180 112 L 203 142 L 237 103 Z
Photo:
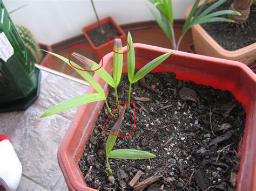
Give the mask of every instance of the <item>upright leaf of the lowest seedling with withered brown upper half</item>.
M 116 123 L 114 124 L 113 128 L 110 131 L 114 135 L 118 135 L 118 133 L 119 133 L 119 130 L 121 128 L 121 124 L 122 124 L 122 121 L 123 121 L 123 118 L 124 118 L 125 108 L 126 108 L 126 105 L 123 108 L 122 113 L 118 117 L 118 119 L 117 119 Z M 107 156 L 110 153 L 110 151 L 112 151 L 114 143 L 116 143 L 116 139 L 117 139 L 117 136 L 113 136 L 113 135 L 109 135 L 109 137 L 107 137 L 106 148 L 105 148 Z

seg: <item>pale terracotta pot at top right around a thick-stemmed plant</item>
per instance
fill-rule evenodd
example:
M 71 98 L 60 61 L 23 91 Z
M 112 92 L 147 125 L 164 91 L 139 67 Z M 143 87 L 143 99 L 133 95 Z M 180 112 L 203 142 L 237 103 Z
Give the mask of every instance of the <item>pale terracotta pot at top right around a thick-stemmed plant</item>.
M 204 2 L 201 0 L 199 6 Z M 211 1 L 212 2 L 212 1 Z M 187 18 L 192 6 L 186 9 L 185 17 Z M 223 58 L 228 60 L 236 60 L 246 65 L 250 65 L 256 60 L 256 43 L 248 45 L 236 51 L 227 51 L 221 47 L 204 29 L 201 25 L 194 25 L 192 27 L 192 37 L 194 49 L 198 54 Z

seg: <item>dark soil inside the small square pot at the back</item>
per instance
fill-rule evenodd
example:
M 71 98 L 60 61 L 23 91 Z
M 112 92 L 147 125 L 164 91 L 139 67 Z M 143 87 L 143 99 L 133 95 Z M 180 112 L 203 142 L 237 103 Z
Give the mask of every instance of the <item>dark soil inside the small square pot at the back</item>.
M 86 33 L 96 47 L 107 43 L 107 38 L 109 36 L 121 36 L 111 22 L 105 23 L 101 27 L 97 27 Z

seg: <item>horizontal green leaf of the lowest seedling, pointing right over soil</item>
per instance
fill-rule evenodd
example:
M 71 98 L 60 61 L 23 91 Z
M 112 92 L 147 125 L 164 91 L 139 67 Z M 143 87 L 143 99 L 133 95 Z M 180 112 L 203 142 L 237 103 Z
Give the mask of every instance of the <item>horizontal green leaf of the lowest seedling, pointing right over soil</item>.
M 139 151 L 133 149 L 117 149 L 111 151 L 107 157 L 112 159 L 151 159 L 156 157 L 156 155 L 147 151 Z

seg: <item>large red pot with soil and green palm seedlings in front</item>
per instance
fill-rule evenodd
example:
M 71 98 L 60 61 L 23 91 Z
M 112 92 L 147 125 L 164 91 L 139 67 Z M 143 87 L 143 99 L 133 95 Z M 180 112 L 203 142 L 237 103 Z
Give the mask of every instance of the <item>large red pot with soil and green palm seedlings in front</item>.
M 122 88 L 117 89 L 118 84 L 121 83 L 120 85 L 123 86 L 124 81 L 120 80 L 123 55 L 118 54 L 122 53 L 123 51 L 120 48 L 120 41 L 116 40 L 116 44 L 114 45 L 115 52 L 104 56 L 105 64 L 102 68 L 96 71 L 94 78 L 92 78 L 87 72 L 79 70 L 79 66 L 74 62 L 71 62 L 73 66 L 78 67 L 77 72 L 92 85 L 87 90 L 87 94 L 80 95 L 72 98 L 71 100 L 57 104 L 55 107 L 45 111 L 45 113 L 42 115 L 42 117 L 50 116 L 84 104 L 78 109 L 76 116 L 74 117 L 69 130 L 66 132 L 66 135 L 58 150 L 59 165 L 62 169 L 69 189 L 93 190 L 90 187 L 94 187 L 95 189 L 143 189 L 151 186 L 151 184 L 154 182 L 158 182 L 160 186 L 164 184 L 165 186 L 173 189 L 194 186 L 203 190 L 207 189 L 210 185 L 212 185 L 211 188 L 220 188 L 220 183 L 224 182 L 226 185 L 223 184 L 222 186 L 224 186 L 225 189 L 227 187 L 235 188 L 236 180 L 238 190 L 254 189 L 255 185 L 252 184 L 254 179 L 254 168 L 252 168 L 252 166 L 255 165 L 254 156 L 256 154 L 256 150 L 253 136 L 255 135 L 256 131 L 253 127 L 255 126 L 256 122 L 253 114 L 256 110 L 254 107 L 256 98 L 253 89 L 255 89 L 256 81 L 253 72 L 245 65 L 235 61 L 221 60 L 203 55 L 189 54 L 178 51 L 173 51 L 173 54 L 170 56 L 171 52 L 169 49 L 143 44 L 134 44 L 133 46 L 130 34 L 127 41 L 129 44 L 127 44 L 127 47 L 123 48 L 123 51 L 125 51 L 125 49 L 130 49 L 130 51 L 126 54 L 127 61 L 124 62 L 123 68 L 123 72 L 127 72 L 127 79 L 129 82 L 126 83 L 125 86 L 128 88 L 128 90 L 126 90 L 127 97 L 122 97 L 120 94 L 118 94 L 118 91 L 120 92 L 120 89 Z M 51 54 L 57 56 L 65 63 L 70 65 L 69 60 L 63 56 L 55 53 Z M 99 67 L 97 63 L 85 58 L 82 55 L 73 55 L 75 55 L 78 60 L 85 63 L 87 67 L 91 67 L 92 70 Z M 160 63 L 161 65 L 159 65 Z M 206 65 L 207 67 L 205 67 Z M 138 69 L 137 73 L 134 72 L 135 68 Z M 151 70 L 156 74 L 146 75 Z M 176 75 L 170 72 L 173 72 Z M 240 76 L 239 79 L 237 77 L 238 75 Z M 140 81 L 141 86 L 144 88 L 144 90 L 142 89 L 141 92 L 136 92 L 136 90 L 139 89 L 138 83 L 136 83 L 138 80 Z M 193 81 L 194 83 L 187 81 Z M 147 84 L 151 82 L 154 82 L 154 84 Z M 196 83 L 204 86 L 197 85 Z M 108 85 L 113 87 L 114 90 L 109 94 L 109 98 L 106 98 L 106 95 L 108 95 L 110 92 L 110 87 Z M 160 86 L 162 88 L 160 88 Z M 201 91 L 198 89 L 197 94 L 196 91 L 188 88 L 188 86 L 203 89 L 201 89 Z M 173 87 L 177 87 L 178 89 L 174 90 Z M 145 88 L 149 91 L 145 90 Z M 213 88 L 218 88 L 219 90 Z M 221 91 L 220 89 L 230 91 L 234 97 L 227 91 Z M 161 91 L 159 92 L 159 90 Z M 151 91 L 152 93 L 150 93 Z M 157 96 L 152 96 L 149 98 L 152 94 L 156 94 Z M 199 98 L 198 95 L 200 94 L 204 95 Z M 138 95 L 139 97 L 136 97 L 135 95 Z M 211 95 L 211 98 L 207 99 L 206 97 L 209 95 Z M 120 131 L 120 121 L 123 120 L 123 112 L 125 108 L 123 108 L 123 110 L 120 109 L 120 112 L 123 112 L 118 117 L 118 113 L 120 112 L 111 110 L 110 107 L 113 108 L 113 105 L 116 104 L 117 107 L 115 108 L 118 109 L 118 105 L 120 105 L 118 100 L 120 97 L 122 97 L 122 101 L 127 101 L 129 104 L 131 96 L 131 101 L 136 100 L 136 103 L 139 106 L 136 109 L 131 105 L 129 109 L 129 106 L 127 105 L 128 111 L 125 112 L 124 117 L 125 124 L 122 126 L 123 129 L 121 130 L 125 130 L 125 125 L 128 126 L 128 129 L 129 127 L 131 128 L 129 122 L 131 119 L 136 119 L 137 129 L 134 131 L 134 133 L 137 135 L 134 135 L 131 138 L 117 139 L 117 137 L 114 135 L 127 136 L 127 132 L 119 132 L 119 134 L 113 133 L 113 131 L 117 129 Z M 178 96 L 177 100 L 173 102 L 173 98 L 171 98 L 172 103 L 166 105 L 166 103 L 169 102 L 169 98 L 173 96 Z M 159 99 L 159 97 L 160 100 L 155 102 L 155 100 Z M 204 101 L 205 99 L 207 101 Z M 143 104 L 143 102 L 150 100 L 152 103 L 148 103 L 149 106 L 147 104 Z M 226 102 L 227 100 L 229 100 L 228 103 Z M 204 103 L 202 101 L 211 103 L 212 105 L 208 105 L 206 108 L 204 108 Z M 104 102 L 106 106 L 103 109 Z M 242 103 L 242 107 L 239 102 Z M 213 103 L 217 104 L 218 106 L 213 106 Z M 190 116 L 190 112 L 193 112 L 193 109 L 191 108 L 194 107 L 198 107 L 198 109 L 200 108 L 199 110 L 201 110 L 201 114 L 206 117 L 204 120 L 196 116 L 197 118 L 194 118 L 193 121 L 197 119 L 197 122 L 193 122 L 191 124 L 188 123 L 189 128 L 183 128 L 184 125 L 188 125 L 187 123 L 185 124 L 183 122 L 184 124 L 179 125 L 180 121 L 177 122 L 177 124 L 173 124 L 173 122 L 171 122 L 175 120 L 175 118 L 177 118 L 176 116 L 179 114 L 182 114 L 183 117 L 178 120 L 183 120 L 184 118 L 192 120 L 191 118 L 193 117 Z M 134 111 L 131 108 L 134 109 Z M 236 108 L 232 112 L 232 115 L 234 116 L 230 116 L 231 118 L 228 117 L 234 108 Z M 171 109 L 172 112 L 169 112 L 170 110 L 165 111 L 166 109 Z M 115 111 L 116 113 L 114 113 Z M 243 123 L 245 122 L 245 111 L 245 132 L 244 136 L 242 136 L 240 133 L 244 131 Z M 105 114 L 105 112 L 107 112 L 107 114 Z M 140 118 L 130 115 L 134 114 L 134 112 L 136 112 L 137 117 L 139 116 Z M 113 114 L 115 116 L 113 116 Z M 187 117 L 185 117 L 186 115 Z M 224 116 L 220 117 L 221 115 Z M 106 124 L 104 123 L 104 120 L 107 116 L 109 116 L 109 122 L 107 123 L 110 124 L 110 128 L 112 129 L 110 131 L 112 134 L 109 136 L 107 136 L 106 133 L 100 133 L 99 131 L 102 129 L 104 130 L 104 126 Z M 115 121 L 111 116 L 113 118 L 118 117 L 117 121 Z M 152 119 L 153 121 L 151 121 L 151 119 L 147 116 L 154 118 Z M 217 123 L 217 116 L 220 118 L 224 117 L 223 121 Z M 127 117 L 130 117 L 130 119 L 127 119 Z M 206 120 L 207 122 L 203 122 Z M 220 124 L 222 122 L 224 123 Z M 198 123 L 206 123 L 206 126 L 204 128 L 201 126 L 200 128 L 200 125 L 197 125 Z M 101 125 L 103 125 L 103 127 Z M 179 125 L 179 130 L 177 130 L 176 125 Z M 157 126 L 158 129 L 154 129 Z M 170 131 L 170 129 L 167 128 L 169 126 L 172 126 L 173 131 Z M 233 129 L 231 131 L 230 128 L 232 128 L 232 126 Z M 185 137 L 183 137 L 183 131 L 186 131 Z M 200 131 L 203 132 L 203 135 L 199 135 Z M 159 134 L 158 132 L 161 133 Z M 178 135 L 175 135 L 177 132 Z M 158 135 L 158 138 L 155 137 L 157 140 L 153 138 L 155 135 Z M 166 139 L 166 136 L 169 138 Z M 243 138 L 239 138 L 239 136 Z M 195 137 L 196 140 L 194 140 L 193 137 Z M 231 137 L 232 139 L 230 139 Z M 113 147 L 116 139 L 119 140 L 119 142 L 117 142 L 116 146 Z M 172 146 L 169 146 L 168 144 L 170 144 L 172 139 L 175 139 L 177 143 L 171 143 Z M 193 139 L 193 141 L 190 141 L 191 139 Z M 136 156 L 136 153 L 134 152 L 138 151 L 132 151 L 133 153 L 129 155 L 124 153 L 127 150 L 120 152 L 117 149 L 114 150 L 116 152 L 113 153 L 112 150 L 109 149 L 109 142 L 112 143 L 111 149 L 121 148 L 120 150 L 123 150 L 123 146 L 128 147 L 131 142 L 133 146 L 130 146 L 135 147 L 138 150 L 143 150 L 139 149 L 140 147 L 146 148 L 145 150 L 147 153 L 145 153 L 144 156 L 145 158 L 152 158 L 151 162 L 146 162 L 145 160 L 142 162 L 139 162 L 139 160 L 112 160 L 109 162 L 108 158 L 139 158 L 138 155 L 137 157 L 134 157 Z M 239 142 L 242 142 L 243 144 L 239 144 Z M 207 148 L 204 148 L 203 145 L 197 148 L 186 148 L 186 146 L 190 145 L 191 143 L 200 143 L 205 145 Z M 176 149 L 179 147 L 176 144 L 180 145 L 181 150 Z M 154 148 L 153 145 L 157 145 L 157 147 Z M 183 147 L 182 145 L 185 146 Z M 232 145 L 234 145 L 233 148 L 231 147 Z M 233 149 L 235 152 L 233 152 Z M 210 150 L 215 150 L 215 152 L 210 152 Z M 235 168 L 231 168 L 231 166 L 227 166 L 223 162 L 227 160 L 225 158 L 227 157 L 226 153 L 232 153 L 229 152 L 231 150 L 234 155 L 237 154 L 236 157 L 233 155 L 234 158 L 237 158 L 238 155 L 241 154 L 241 161 L 238 160 L 235 162 Z M 156 158 L 153 158 L 154 156 L 149 152 L 156 154 Z M 173 153 L 175 153 L 175 155 Z M 207 157 L 207 154 L 205 155 L 205 153 L 213 154 L 211 161 Z M 208 159 L 202 160 L 200 156 L 204 156 L 206 157 L 205 159 Z M 142 156 L 140 155 L 140 157 Z M 162 157 L 164 157 L 164 160 Z M 159 161 L 161 158 L 163 162 Z M 179 158 L 183 158 L 182 161 L 180 161 Z M 175 161 L 174 163 L 172 162 L 173 160 Z M 159 165 L 157 165 L 157 161 L 160 162 Z M 182 173 L 182 171 L 185 171 L 185 169 L 188 167 L 185 164 L 188 164 L 188 162 L 191 161 L 198 162 L 197 169 L 185 174 L 184 172 Z M 239 162 L 241 162 L 240 171 L 238 166 Z M 177 165 L 179 163 L 184 164 L 185 166 L 181 167 L 183 165 Z M 175 164 L 176 168 L 174 168 Z M 170 167 L 172 165 L 174 166 L 173 168 L 170 168 L 169 165 Z M 208 168 L 207 165 L 213 165 L 211 166 L 211 169 L 213 169 L 214 173 L 211 172 L 210 169 L 208 169 L 208 171 L 211 172 L 210 174 L 214 174 L 214 178 L 211 178 L 210 175 L 210 179 L 214 180 L 215 182 L 212 182 L 211 184 L 208 183 L 208 180 L 205 178 L 205 176 L 207 176 L 207 172 L 204 172 L 202 165 L 206 165 L 205 168 Z M 114 178 L 111 175 L 112 171 L 110 171 L 110 168 L 112 171 L 114 171 Z M 157 171 L 157 168 L 161 168 L 160 172 Z M 219 170 L 217 170 L 217 168 Z M 143 178 L 141 177 L 142 171 L 145 174 Z M 228 177 L 228 185 L 226 180 L 221 180 L 224 178 L 224 176 L 219 176 L 215 171 L 220 171 L 219 173 L 227 173 L 225 174 L 225 177 Z M 236 172 L 238 172 L 237 179 Z M 98 177 L 96 177 L 97 174 Z M 184 178 L 182 176 L 185 176 L 186 179 L 183 180 Z M 218 177 L 221 177 L 221 179 Z M 230 183 L 229 178 L 232 183 Z M 194 182 L 193 186 L 190 185 L 190 181 Z M 86 182 L 90 185 L 90 187 L 87 186 Z M 129 186 L 127 185 L 128 183 Z M 105 185 L 105 187 L 103 185 Z

